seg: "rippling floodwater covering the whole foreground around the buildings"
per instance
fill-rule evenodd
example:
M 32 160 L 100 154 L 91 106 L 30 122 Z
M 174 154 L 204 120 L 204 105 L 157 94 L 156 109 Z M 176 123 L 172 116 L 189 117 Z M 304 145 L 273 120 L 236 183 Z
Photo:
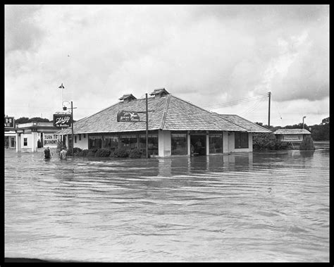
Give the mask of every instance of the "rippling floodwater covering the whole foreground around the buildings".
M 168 159 L 5 149 L 5 257 L 329 262 L 329 148 Z

